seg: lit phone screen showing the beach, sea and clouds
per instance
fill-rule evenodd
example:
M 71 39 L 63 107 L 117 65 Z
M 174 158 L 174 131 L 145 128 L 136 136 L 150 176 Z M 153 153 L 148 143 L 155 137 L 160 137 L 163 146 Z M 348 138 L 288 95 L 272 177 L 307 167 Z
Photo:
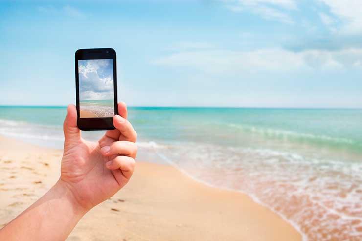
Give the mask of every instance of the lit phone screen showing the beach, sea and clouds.
M 78 60 L 78 75 L 79 117 L 113 117 L 113 59 Z

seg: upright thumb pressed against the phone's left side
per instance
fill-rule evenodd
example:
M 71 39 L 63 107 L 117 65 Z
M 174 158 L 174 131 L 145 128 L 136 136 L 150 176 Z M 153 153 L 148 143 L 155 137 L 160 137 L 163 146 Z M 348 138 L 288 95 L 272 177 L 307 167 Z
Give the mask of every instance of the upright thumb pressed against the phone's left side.
M 80 130 L 77 126 L 77 109 L 70 104 L 67 108 L 67 116 L 63 124 L 64 143 L 78 142 L 81 138 Z

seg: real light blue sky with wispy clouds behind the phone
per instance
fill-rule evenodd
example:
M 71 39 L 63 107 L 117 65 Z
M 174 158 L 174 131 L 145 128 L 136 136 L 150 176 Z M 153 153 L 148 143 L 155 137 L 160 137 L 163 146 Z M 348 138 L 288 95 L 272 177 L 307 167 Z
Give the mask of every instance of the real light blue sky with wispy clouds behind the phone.
M 0 105 L 75 103 L 74 53 L 117 52 L 130 106 L 362 108 L 362 1 L 1 1 Z

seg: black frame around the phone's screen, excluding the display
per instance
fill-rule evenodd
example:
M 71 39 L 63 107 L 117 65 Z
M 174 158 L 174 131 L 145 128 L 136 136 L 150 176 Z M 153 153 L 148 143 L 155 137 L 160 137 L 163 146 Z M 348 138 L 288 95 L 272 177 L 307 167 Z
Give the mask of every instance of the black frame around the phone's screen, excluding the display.
M 108 53 L 107 53 L 108 51 Z M 118 114 L 117 107 L 117 63 L 116 53 L 113 48 L 90 48 L 78 49 L 75 52 L 75 85 L 77 99 L 77 125 L 80 130 L 96 131 L 96 130 L 113 130 L 113 117 L 107 118 L 80 118 L 79 112 L 79 73 L 78 60 L 91 59 L 113 59 L 113 88 L 114 88 L 114 114 Z

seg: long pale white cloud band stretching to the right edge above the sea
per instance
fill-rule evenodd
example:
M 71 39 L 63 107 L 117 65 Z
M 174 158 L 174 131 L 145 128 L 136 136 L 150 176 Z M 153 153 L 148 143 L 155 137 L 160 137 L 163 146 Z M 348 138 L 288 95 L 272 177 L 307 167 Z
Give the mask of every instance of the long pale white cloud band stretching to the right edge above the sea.
M 254 51 L 180 52 L 154 61 L 157 65 L 192 68 L 208 74 L 340 71 L 350 67 L 358 67 L 358 63 L 361 62 L 362 49 L 293 52 L 279 48 Z

